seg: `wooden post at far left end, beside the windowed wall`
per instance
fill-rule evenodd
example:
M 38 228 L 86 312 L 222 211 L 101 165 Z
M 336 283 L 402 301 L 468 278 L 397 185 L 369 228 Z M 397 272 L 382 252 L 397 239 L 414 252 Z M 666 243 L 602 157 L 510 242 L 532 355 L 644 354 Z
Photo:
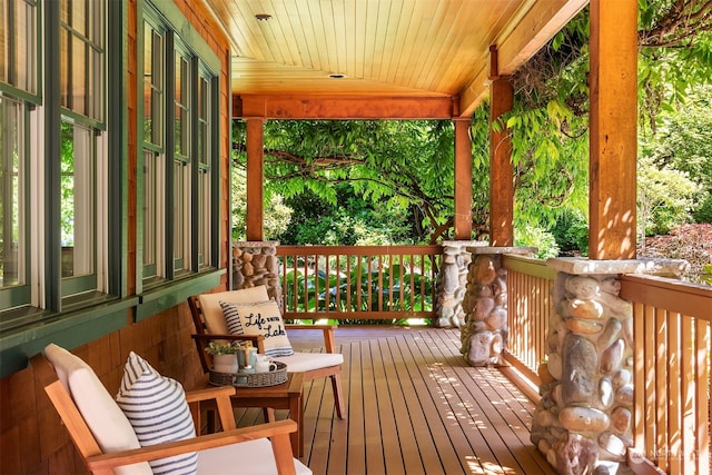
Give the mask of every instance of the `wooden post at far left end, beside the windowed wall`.
M 247 119 L 247 240 L 264 240 L 264 119 Z

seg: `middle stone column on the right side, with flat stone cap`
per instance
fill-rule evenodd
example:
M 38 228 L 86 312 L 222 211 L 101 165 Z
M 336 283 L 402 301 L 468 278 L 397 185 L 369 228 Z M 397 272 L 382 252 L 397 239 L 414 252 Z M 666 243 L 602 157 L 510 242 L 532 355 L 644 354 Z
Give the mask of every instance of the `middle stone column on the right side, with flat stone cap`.
M 507 270 L 503 254 L 531 256 L 535 248 L 468 247 L 472 263 L 463 298 L 465 323 L 461 331 L 461 353 L 473 366 L 500 364 L 507 340 Z

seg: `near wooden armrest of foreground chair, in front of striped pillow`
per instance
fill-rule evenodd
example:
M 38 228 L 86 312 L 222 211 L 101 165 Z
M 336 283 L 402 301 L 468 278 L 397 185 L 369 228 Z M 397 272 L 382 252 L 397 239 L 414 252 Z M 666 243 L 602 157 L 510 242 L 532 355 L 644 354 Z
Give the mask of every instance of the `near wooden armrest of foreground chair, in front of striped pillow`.
M 112 452 L 87 457 L 87 466 L 90 471 L 107 471 L 121 465 L 130 465 L 139 462 L 148 462 L 157 458 L 170 457 L 187 452 L 205 451 L 221 447 L 224 445 L 240 442 L 255 441 L 270 437 L 275 449 L 275 458 L 279 458 L 277 452 L 289 451 L 291 445 L 289 434 L 297 431 L 297 424 L 291 419 L 275 423 L 260 424 L 251 427 L 243 427 L 227 432 L 201 435 L 185 441 L 169 442 L 130 451 Z M 294 456 L 294 455 L 293 455 Z M 294 471 L 294 465 L 293 465 Z M 294 472 L 291 472 L 294 473 Z

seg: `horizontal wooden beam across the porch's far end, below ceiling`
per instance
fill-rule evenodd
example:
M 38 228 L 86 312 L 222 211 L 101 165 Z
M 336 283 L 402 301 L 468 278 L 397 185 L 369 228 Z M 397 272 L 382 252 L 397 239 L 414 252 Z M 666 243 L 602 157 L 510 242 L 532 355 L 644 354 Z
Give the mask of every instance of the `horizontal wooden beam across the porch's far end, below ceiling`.
M 233 96 L 236 118 L 265 119 L 451 119 L 452 97 Z

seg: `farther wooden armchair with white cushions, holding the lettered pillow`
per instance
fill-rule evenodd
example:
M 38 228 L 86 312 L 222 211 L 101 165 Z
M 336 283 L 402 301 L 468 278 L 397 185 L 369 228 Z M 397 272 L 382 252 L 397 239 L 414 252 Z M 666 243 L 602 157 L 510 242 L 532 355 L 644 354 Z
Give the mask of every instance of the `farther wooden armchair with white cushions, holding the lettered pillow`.
M 196 326 L 192 338 L 200 357 L 202 369 L 208 373 L 211 366 L 209 355 L 204 350 L 211 340 L 246 340 L 251 339 L 258 348 L 258 353 L 265 353 L 263 336 L 230 335 L 220 301 L 230 304 L 251 304 L 266 301 L 269 297 L 265 286 L 257 286 L 240 290 L 228 290 L 215 294 L 201 294 L 188 298 L 188 305 Z M 344 396 L 342 392 L 342 365 L 344 356 L 336 350 L 334 329 L 336 325 L 285 325 L 285 330 L 318 329 L 323 331 L 324 348 L 326 353 L 299 353 L 291 356 L 279 356 L 275 359 L 287 365 L 287 372 L 304 373 L 304 380 L 328 377 L 334 390 L 336 415 L 339 418 L 346 416 Z M 211 329 L 211 331 L 210 331 Z

